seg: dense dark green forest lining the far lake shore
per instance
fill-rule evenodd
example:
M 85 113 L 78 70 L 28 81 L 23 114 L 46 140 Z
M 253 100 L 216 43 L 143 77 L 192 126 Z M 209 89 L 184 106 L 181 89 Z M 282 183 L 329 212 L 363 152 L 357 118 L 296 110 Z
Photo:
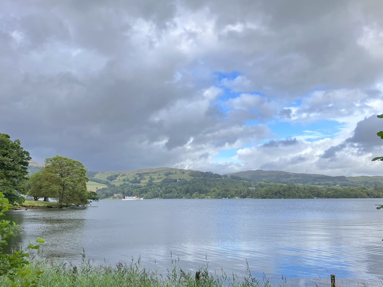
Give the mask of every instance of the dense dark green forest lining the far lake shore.
M 193 174 L 194 175 L 194 174 Z M 139 178 L 126 181 L 120 186 L 109 184 L 97 190 L 100 198 L 140 196 L 151 198 L 368 198 L 383 197 L 383 187 L 310 186 L 264 181 L 248 181 L 238 176 L 220 176 L 213 173 L 196 174 L 192 179 L 164 178 L 160 183 L 150 181 L 139 185 Z M 91 179 L 94 180 L 94 179 Z M 133 181 L 133 182 L 132 182 Z

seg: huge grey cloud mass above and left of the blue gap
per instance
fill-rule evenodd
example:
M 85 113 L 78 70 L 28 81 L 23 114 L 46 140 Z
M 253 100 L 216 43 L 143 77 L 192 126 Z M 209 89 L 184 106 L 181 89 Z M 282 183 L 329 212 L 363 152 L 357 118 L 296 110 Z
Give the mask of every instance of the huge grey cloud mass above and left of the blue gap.
M 210 101 L 200 111 L 203 91 L 220 82 L 217 71 L 241 73 L 246 89 L 278 103 L 318 87 L 364 89 L 383 71 L 382 59 L 358 44 L 363 26 L 381 27 L 376 2 L 2 4 L 0 131 L 36 158 L 61 154 L 91 170 L 173 166 L 275 137 L 243 122 L 278 111 L 289 119 L 283 104 L 226 113 Z

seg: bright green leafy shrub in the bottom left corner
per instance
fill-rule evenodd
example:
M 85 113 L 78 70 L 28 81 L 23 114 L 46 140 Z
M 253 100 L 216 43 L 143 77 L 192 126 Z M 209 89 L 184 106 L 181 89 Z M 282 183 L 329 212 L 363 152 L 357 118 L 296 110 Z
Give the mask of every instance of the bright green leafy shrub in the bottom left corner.
M 5 216 L 4 212 L 8 211 L 8 199 L 4 198 L 0 192 L 0 216 Z M 26 249 L 18 251 L 13 250 L 10 254 L 3 253 L 3 246 L 8 245 L 7 239 L 15 236 L 15 231 L 20 227 L 15 222 L 9 220 L 0 221 L 0 282 L 7 280 L 8 286 L 33 287 L 37 285 L 37 277 L 43 273 L 38 269 L 29 266 L 28 250 L 39 249 L 39 245 L 30 243 Z M 38 238 L 36 243 L 44 243 L 44 240 Z M 18 282 L 18 284 L 16 284 Z M 1 284 L 1 286 L 7 286 Z

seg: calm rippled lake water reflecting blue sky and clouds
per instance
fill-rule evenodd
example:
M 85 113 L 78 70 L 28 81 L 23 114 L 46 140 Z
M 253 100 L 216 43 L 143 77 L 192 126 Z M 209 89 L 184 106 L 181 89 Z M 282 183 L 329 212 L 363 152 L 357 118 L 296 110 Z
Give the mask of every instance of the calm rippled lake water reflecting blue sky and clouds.
M 180 267 L 254 276 L 379 280 L 383 275 L 383 199 L 101 200 L 87 208 L 17 210 L 11 245 L 42 237 L 44 256 L 150 269 Z M 155 261 L 155 264 L 154 264 Z

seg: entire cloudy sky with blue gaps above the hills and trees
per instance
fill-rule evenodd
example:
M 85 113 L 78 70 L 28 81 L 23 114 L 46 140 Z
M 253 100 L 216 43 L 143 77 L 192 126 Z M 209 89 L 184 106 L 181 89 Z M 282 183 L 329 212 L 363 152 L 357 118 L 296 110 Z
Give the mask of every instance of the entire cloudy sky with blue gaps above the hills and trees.
M 383 175 L 383 1 L 3 0 L 0 132 L 34 160 Z

